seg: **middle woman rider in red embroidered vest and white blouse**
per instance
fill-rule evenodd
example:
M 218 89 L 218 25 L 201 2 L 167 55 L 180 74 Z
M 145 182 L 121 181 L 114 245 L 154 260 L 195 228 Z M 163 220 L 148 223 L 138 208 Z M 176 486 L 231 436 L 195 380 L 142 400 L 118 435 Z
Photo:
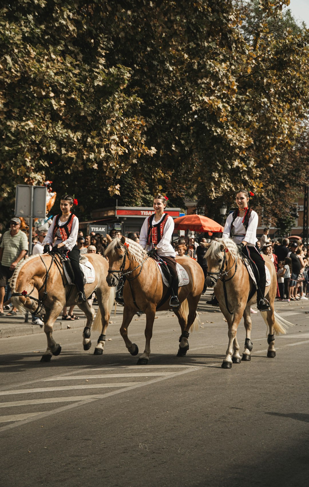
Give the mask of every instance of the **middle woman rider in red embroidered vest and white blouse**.
M 176 270 L 175 250 L 171 245 L 174 221 L 170 215 L 164 213 L 168 198 L 158 194 L 154 198 L 154 215 L 147 217 L 141 227 L 139 244 L 145 250 L 154 249 L 157 255 L 166 262 L 172 276 L 172 298 L 170 306 L 178 308 L 178 275 Z

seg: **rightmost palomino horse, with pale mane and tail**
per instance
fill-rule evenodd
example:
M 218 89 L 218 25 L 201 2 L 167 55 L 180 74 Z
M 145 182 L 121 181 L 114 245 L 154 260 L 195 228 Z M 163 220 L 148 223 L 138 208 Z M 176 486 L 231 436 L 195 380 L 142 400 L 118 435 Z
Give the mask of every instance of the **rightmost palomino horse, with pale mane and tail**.
M 253 345 L 251 342 L 250 307 L 257 302 L 257 293 L 254 292 L 252 298 L 248 301 L 250 294 L 252 295 L 253 293 L 254 283 L 249 277 L 238 247 L 233 240 L 220 239 L 211 242 L 205 257 L 208 266 L 207 286 L 214 287 L 215 296 L 228 324 L 229 341 L 222 367 L 223 369 L 230 369 L 232 363 L 240 363 L 236 333 L 242 316 L 246 329 L 246 339 L 241 360 L 251 360 L 250 352 Z M 277 290 L 275 266 L 266 255 L 264 259 L 271 275 L 271 284 L 265 290 L 265 298 L 270 303 L 270 310 L 262 311 L 261 315 L 269 328 L 267 356 L 273 358 L 276 355 L 274 332 L 275 335 L 279 335 L 279 333 L 285 334 L 285 328 L 291 323 L 275 312 L 274 301 Z

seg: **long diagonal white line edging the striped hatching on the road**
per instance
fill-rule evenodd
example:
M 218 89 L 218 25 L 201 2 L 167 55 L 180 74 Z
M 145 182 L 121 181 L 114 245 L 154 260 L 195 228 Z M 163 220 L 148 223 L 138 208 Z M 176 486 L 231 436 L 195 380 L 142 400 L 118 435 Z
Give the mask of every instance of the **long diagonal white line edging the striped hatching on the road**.
M 172 377 L 176 377 L 177 375 L 188 374 L 189 372 L 194 372 L 194 371 L 197 371 L 197 370 L 199 370 L 199 367 L 190 367 L 190 368 L 188 368 L 186 370 L 176 372 L 176 373 L 174 373 L 172 375 L 166 375 L 165 377 L 157 377 L 155 379 L 152 379 L 152 380 L 149 380 L 149 381 L 145 381 L 145 382 L 136 382 L 132 386 L 124 387 L 123 389 L 118 389 L 117 391 L 111 391 L 109 393 L 100 394 L 96 398 L 86 399 L 86 400 L 79 401 L 79 402 L 75 402 L 75 403 L 72 403 L 72 404 L 67 404 L 66 406 L 61 406 L 60 408 L 53 409 L 52 411 L 46 411 L 46 412 L 42 412 L 42 413 L 37 413 L 37 415 L 34 416 L 34 417 L 32 417 L 32 418 L 28 417 L 28 419 L 24 419 L 24 420 L 21 420 L 21 421 L 16 421 L 15 423 L 11 423 L 9 425 L 2 426 L 0 428 L 0 431 L 10 430 L 12 428 L 16 428 L 17 426 L 20 427 L 21 425 L 30 423 L 31 421 L 34 421 L 36 419 L 42 419 L 42 418 L 45 418 L 47 416 L 51 416 L 52 414 L 57 414 L 57 413 L 61 413 L 63 411 L 68 411 L 69 409 L 77 408 L 79 406 L 84 406 L 84 405 L 89 404 L 91 402 L 97 401 L 98 399 L 104 399 L 106 397 L 111 397 L 113 395 L 120 394 L 120 393 L 123 393 L 123 392 L 129 392 L 129 391 L 132 391 L 133 389 L 137 389 L 139 387 L 149 386 L 150 384 L 155 384 L 156 382 L 161 382 L 163 380 L 167 380 L 167 379 L 170 379 Z M 126 386 L 127 385 L 128 384 L 126 384 Z M 26 391 L 27 391 L 27 389 L 26 389 Z M 10 392 L 11 391 L 9 391 L 9 393 Z

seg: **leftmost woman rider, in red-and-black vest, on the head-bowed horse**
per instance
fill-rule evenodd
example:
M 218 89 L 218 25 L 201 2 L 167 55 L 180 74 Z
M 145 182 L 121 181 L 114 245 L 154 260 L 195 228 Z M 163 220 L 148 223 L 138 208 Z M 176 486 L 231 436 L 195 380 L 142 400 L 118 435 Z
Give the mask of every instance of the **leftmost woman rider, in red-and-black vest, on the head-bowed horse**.
M 44 253 L 49 252 L 50 245 L 54 245 L 52 247 L 53 252 L 68 252 L 68 257 L 74 272 L 75 284 L 78 289 L 76 301 L 82 303 L 86 301 L 86 296 L 84 291 L 84 277 L 79 266 L 80 251 L 76 245 L 79 222 L 77 216 L 70 212 L 73 205 L 77 205 L 77 200 L 72 196 L 65 194 L 61 197 L 61 213 L 52 219 L 43 245 Z

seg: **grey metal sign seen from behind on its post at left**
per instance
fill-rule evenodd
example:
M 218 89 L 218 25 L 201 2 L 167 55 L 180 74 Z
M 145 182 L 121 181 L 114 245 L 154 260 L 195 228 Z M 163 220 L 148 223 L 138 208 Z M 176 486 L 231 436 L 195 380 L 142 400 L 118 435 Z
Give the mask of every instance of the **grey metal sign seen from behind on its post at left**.
M 32 254 L 32 225 L 34 218 L 45 218 L 47 187 L 17 185 L 15 216 L 29 218 L 29 251 Z

